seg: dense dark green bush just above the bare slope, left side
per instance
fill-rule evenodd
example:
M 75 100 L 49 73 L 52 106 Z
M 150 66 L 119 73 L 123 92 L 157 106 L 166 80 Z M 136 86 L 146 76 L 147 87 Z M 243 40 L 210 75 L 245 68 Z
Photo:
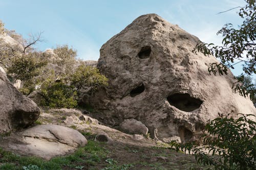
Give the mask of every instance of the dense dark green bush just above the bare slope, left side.
M 40 87 L 43 96 L 41 105 L 51 108 L 74 108 L 77 106 L 77 93 L 74 86 L 63 82 L 46 81 Z

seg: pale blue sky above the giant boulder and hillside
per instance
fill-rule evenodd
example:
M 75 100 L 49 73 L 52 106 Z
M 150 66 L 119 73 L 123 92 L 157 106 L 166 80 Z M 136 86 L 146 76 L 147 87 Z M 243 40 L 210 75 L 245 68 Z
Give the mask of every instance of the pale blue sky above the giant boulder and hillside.
M 84 60 L 97 60 L 103 43 L 138 16 L 156 13 L 202 41 L 221 44 L 216 33 L 231 22 L 241 25 L 237 10 L 243 0 L 0 0 L 0 19 L 5 28 L 27 37 L 43 31 L 39 50 L 68 44 Z M 241 66 L 232 70 L 241 73 Z

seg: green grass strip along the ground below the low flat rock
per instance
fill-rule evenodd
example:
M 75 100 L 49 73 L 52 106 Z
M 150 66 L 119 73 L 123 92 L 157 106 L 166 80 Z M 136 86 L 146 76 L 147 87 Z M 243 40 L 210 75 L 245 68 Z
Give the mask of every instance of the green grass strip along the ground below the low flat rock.
M 89 140 L 85 147 L 79 148 L 75 153 L 65 157 L 55 157 L 49 161 L 36 158 L 24 157 L 11 152 L 3 151 L 0 148 L 0 169 L 24 169 L 24 170 L 58 170 L 62 168 L 81 168 L 79 165 L 91 166 L 106 158 L 109 151 L 100 147 L 98 142 Z M 83 166 L 84 166 L 83 165 Z

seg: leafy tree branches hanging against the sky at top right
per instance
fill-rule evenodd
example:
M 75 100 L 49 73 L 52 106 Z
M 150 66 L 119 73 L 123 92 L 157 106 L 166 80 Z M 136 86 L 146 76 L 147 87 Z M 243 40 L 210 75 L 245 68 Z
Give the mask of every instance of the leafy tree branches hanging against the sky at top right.
M 244 19 L 239 29 L 235 29 L 231 23 L 227 23 L 217 33 L 222 34 L 223 46 L 215 46 L 213 43 L 199 41 L 194 48 L 194 52 L 202 52 L 205 56 L 214 55 L 220 59 L 220 63 L 211 63 L 208 70 L 214 75 L 227 74 L 227 68 L 234 68 L 233 65 L 244 62 L 243 70 L 245 74 L 256 74 L 256 6 L 255 0 L 246 0 L 247 5 L 240 9 L 239 16 Z

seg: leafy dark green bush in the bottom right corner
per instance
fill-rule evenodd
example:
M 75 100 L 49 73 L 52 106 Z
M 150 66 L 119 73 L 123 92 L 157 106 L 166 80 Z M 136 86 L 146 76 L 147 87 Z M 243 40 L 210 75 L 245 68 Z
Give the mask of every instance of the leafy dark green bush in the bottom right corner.
M 249 116 L 254 115 L 241 114 L 235 119 L 229 114 L 211 120 L 202 136 L 208 153 L 204 148 L 194 147 L 195 143 L 170 144 L 177 151 L 193 153 L 199 164 L 213 165 L 215 169 L 255 169 L 256 123 Z

